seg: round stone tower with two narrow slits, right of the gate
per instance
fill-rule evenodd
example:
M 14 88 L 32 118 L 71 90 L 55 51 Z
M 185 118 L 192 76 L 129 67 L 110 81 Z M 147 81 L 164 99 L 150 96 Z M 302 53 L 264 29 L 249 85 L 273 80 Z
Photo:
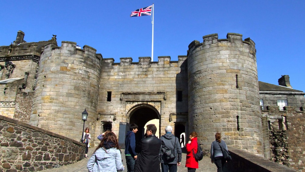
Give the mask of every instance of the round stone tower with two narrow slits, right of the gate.
M 210 149 L 215 133 L 228 145 L 263 156 L 255 43 L 241 34 L 203 36 L 188 46 L 189 128 Z

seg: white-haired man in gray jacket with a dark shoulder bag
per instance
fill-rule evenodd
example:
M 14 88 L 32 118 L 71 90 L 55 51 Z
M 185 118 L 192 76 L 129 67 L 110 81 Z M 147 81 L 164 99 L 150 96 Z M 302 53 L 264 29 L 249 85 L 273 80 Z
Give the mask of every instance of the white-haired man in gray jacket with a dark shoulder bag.
M 161 168 L 162 172 L 177 172 L 177 166 L 180 165 L 181 162 L 181 146 L 179 139 L 172 134 L 173 128 L 171 126 L 165 127 L 165 132 L 163 136 L 160 137 L 161 140 L 161 150 L 160 150 L 160 156 L 161 156 Z M 164 154 L 165 150 L 167 149 L 174 149 L 175 158 L 169 159 Z

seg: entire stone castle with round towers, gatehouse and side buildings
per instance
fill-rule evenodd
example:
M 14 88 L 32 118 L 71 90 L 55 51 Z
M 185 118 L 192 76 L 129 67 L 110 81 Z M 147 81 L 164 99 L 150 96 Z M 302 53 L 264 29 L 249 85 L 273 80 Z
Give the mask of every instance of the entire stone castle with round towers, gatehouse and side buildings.
M 250 38 L 211 34 L 201 43 L 191 42 L 178 61 L 127 57 L 115 63 L 87 45 L 81 49 L 62 41 L 58 46 L 56 35 L 40 42 L 25 42 L 24 35 L 18 31 L 11 45 L 0 46 L 0 115 L 79 140 L 86 109 L 85 127 L 95 144 L 99 134 L 112 130 L 123 147 L 129 124 L 139 126 L 139 140 L 145 124 L 157 119 L 159 135 L 167 125 L 174 126 L 177 137 L 196 131 L 208 150 L 221 132 L 235 148 L 304 167 L 304 154 L 296 153 L 302 145 L 294 144 L 289 127 L 304 138 L 298 126 L 305 123 L 305 93 L 292 89 L 288 75 L 278 86 L 259 82 Z M 278 142 L 283 134 L 284 141 Z M 290 153 L 277 151 L 288 150 L 290 142 Z

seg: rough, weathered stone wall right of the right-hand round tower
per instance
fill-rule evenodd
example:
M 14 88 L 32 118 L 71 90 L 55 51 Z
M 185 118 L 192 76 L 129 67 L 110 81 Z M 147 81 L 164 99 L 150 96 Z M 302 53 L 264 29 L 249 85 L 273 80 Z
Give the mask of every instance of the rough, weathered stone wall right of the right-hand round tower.
M 269 123 L 271 160 L 305 172 L 305 113 L 299 108 L 278 106 L 262 110 Z

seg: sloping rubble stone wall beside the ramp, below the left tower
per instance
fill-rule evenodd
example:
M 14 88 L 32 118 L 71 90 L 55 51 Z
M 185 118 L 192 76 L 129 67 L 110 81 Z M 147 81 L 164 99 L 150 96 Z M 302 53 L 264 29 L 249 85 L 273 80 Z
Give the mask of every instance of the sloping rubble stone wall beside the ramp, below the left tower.
M 83 144 L 0 115 L 0 172 L 40 171 L 84 159 Z

